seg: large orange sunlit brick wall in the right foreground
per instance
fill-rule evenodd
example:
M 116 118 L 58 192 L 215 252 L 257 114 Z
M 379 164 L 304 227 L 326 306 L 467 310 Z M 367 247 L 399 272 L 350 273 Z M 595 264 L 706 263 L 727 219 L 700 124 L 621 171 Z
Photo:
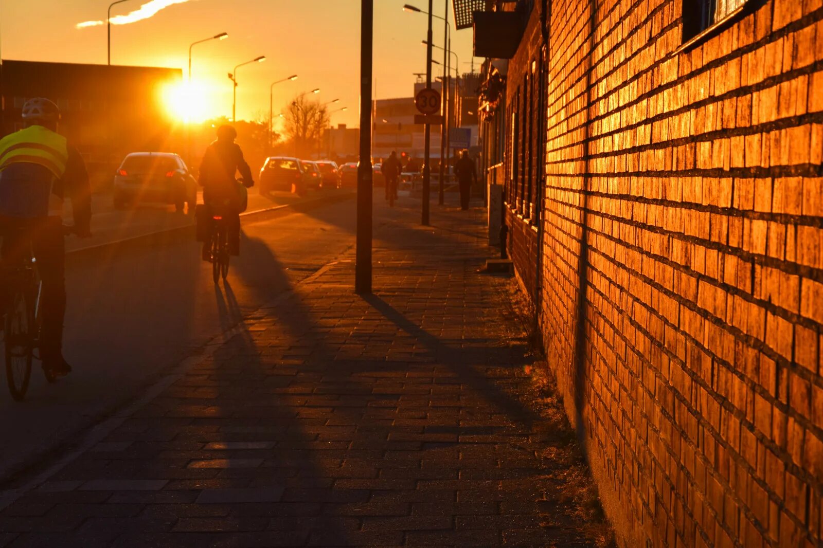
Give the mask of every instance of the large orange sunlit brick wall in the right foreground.
M 554 0 L 542 326 L 625 546 L 816 546 L 823 0 Z

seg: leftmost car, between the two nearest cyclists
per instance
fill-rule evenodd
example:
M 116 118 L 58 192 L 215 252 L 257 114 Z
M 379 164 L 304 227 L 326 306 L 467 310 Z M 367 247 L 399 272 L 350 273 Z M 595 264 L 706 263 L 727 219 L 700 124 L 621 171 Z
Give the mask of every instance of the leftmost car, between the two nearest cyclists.
M 114 172 L 114 208 L 127 203 L 159 202 L 174 204 L 182 212 L 194 213 L 198 202 L 198 183 L 180 156 L 172 152 L 132 152 Z

